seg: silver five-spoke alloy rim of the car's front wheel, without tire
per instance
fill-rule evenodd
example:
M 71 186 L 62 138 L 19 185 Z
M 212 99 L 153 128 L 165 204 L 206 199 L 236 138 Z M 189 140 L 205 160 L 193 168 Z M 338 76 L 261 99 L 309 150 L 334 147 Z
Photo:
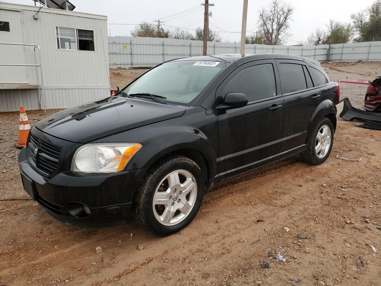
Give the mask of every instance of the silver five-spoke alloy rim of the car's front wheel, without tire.
M 152 209 L 162 225 L 176 225 L 184 220 L 197 198 L 195 178 L 186 170 L 166 175 L 155 190 Z

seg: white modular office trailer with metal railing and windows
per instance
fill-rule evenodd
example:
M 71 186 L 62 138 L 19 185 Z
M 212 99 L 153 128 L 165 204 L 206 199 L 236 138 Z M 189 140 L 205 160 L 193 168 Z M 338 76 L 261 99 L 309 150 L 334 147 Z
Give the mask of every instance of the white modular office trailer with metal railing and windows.
M 109 95 L 106 16 L 0 3 L 0 112 Z

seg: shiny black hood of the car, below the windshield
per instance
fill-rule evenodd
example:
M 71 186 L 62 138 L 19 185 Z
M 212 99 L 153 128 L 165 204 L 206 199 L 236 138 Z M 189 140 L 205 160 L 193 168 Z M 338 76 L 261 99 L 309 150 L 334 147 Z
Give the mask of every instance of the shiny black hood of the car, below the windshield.
M 186 108 L 119 96 L 59 111 L 39 121 L 42 132 L 87 143 L 114 133 L 182 116 Z

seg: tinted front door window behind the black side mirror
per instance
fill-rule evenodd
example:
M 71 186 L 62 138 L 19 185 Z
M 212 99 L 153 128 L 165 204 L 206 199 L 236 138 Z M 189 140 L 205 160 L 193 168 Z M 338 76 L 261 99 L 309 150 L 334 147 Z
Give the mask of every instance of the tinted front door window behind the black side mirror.
M 259 64 L 238 72 L 225 86 L 225 92 L 243 93 L 249 102 L 276 95 L 272 64 Z

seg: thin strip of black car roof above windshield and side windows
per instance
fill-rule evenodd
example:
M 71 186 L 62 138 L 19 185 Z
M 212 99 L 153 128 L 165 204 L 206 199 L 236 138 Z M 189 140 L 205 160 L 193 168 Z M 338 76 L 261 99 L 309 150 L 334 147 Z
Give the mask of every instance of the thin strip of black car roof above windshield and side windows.
M 284 54 L 246 54 L 246 55 L 224 54 L 224 55 L 210 55 L 210 56 L 194 56 L 189 58 L 173 59 L 170 61 L 224 61 L 227 63 L 232 63 L 242 58 L 244 58 L 245 61 L 254 60 L 254 59 L 296 59 L 299 61 L 307 61 L 309 63 L 313 63 L 320 66 L 320 63 L 318 61 L 315 61 L 314 59 L 306 58 L 303 56 L 284 55 Z

